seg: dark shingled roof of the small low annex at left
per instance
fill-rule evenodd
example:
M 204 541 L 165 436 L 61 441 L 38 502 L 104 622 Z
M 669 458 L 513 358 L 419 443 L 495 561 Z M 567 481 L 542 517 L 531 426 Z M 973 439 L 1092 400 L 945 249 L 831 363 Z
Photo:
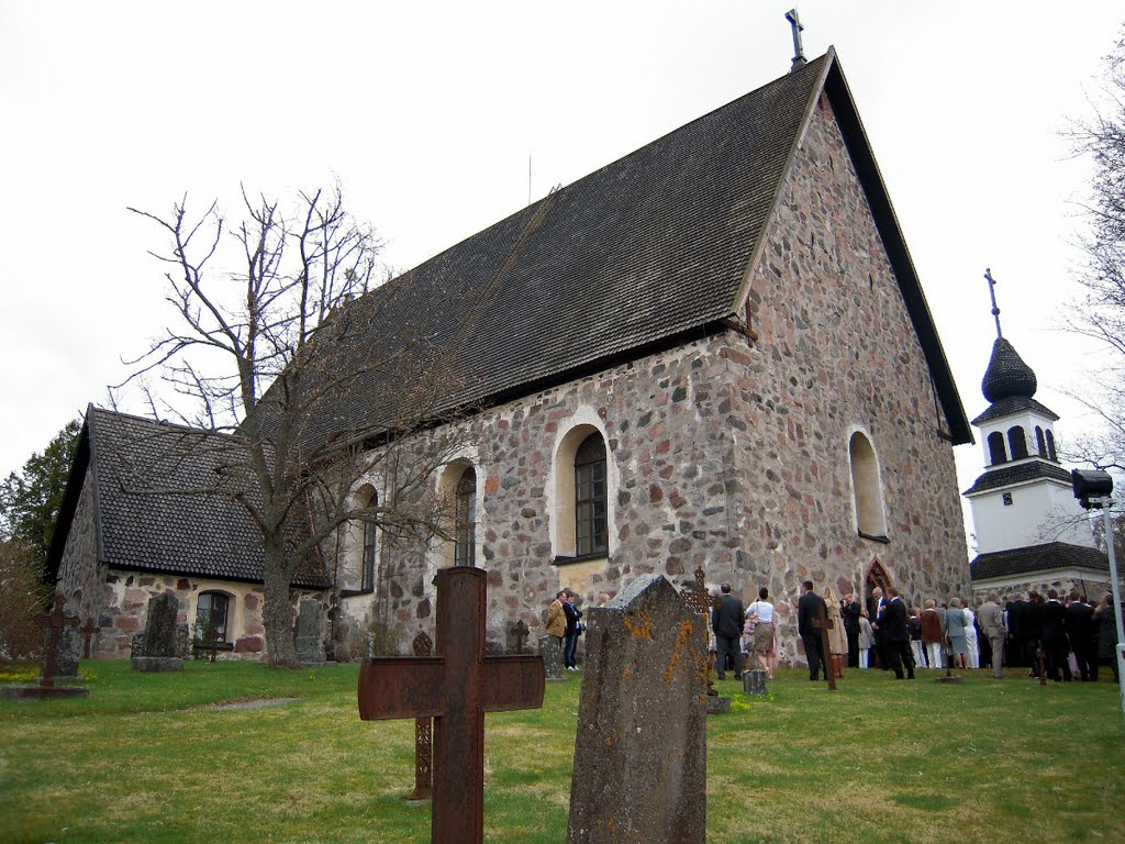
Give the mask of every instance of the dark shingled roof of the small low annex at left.
M 115 413 L 87 411 L 52 542 L 57 573 L 87 473 L 92 473 L 98 559 L 115 568 L 261 582 L 261 533 L 218 492 L 222 466 L 242 457 L 233 438 Z M 213 491 L 213 492 L 208 492 Z M 309 562 L 292 585 L 323 587 Z

